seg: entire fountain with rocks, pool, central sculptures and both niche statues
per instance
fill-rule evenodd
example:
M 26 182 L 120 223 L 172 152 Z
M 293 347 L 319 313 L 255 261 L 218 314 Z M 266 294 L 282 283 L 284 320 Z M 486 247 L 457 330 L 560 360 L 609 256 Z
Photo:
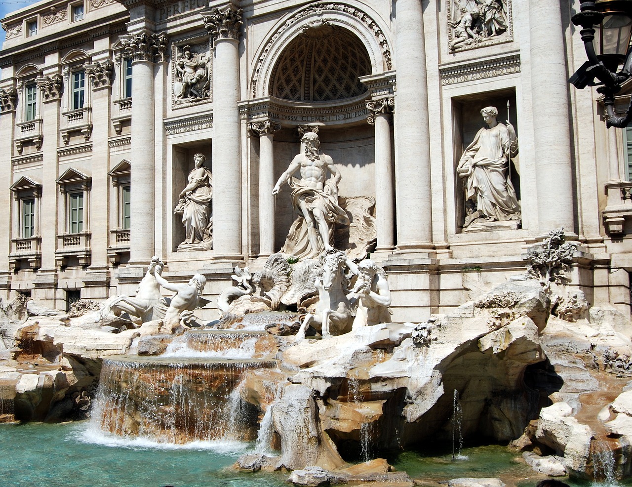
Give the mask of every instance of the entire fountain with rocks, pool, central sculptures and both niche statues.
M 497 109 L 482 115 L 458 166 L 473 203 L 484 195 L 487 205 L 470 222 L 512 225 L 520 207 L 503 168 L 518 139 Z M 195 159 L 176 213 L 185 243 L 200 245 L 210 176 Z M 370 259 L 374 217 L 363 200 L 340 206 L 340 180 L 318 134 L 305 132 L 273 189 L 298 218 L 283 249 L 234 268 L 217 319 L 197 314 L 205 277 L 171 283 L 159 256 L 133 295 L 81 300 L 66 314 L 2 302 L 2 428 L 45 450 L 38 461 L 55 464 L 51 476 L 65 469 L 64 485 L 94 471 L 108 485 L 630 476 L 632 325 L 568 287 L 580 254 L 564 231 L 526 250 L 524 272 L 506 283 L 449 314 L 396 323 L 389 277 Z M 50 452 L 59 435 L 66 460 Z M 17 445 L 5 442 L 4 455 Z M 13 478 L 36 484 L 20 462 Z

